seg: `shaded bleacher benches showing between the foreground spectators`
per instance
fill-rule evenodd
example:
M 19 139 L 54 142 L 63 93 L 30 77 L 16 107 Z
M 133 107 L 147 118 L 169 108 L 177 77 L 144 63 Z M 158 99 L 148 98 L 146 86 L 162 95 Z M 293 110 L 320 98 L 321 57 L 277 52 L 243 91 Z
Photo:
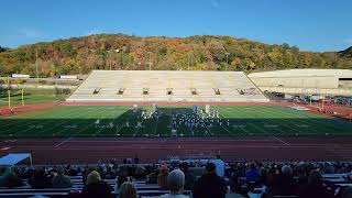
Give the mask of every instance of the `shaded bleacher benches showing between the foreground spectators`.
M 180 162 L 182 164 L 184 162 Z M 260 183 L 249 183 L 246 180 L 245 174 L 248 172 L 248 168 L 250 163 L 245 162 L 237 162 L 237 163 L 227 163 L 227 168 L 226 168 L 226 180 L 228 184 L 228 196 L 227 197 L 242 197 L 240 194 L 243 196 L 248 197 L 262 197 L 265 193 L 265 182 Z M 199 178 L 204 173 L 205 169 L 204 167 L 199 167 L 200 164 L 193 164 L 189 167 L 189 172 L 193 173 L 196 178 Z M 256 167 L 258 172 L 262 172 L 263 169 L 270 170 L 274 168 L 273 176 L 277 175 L 275 173 L 275 169 L 279 169 L 284 165 L 289 165 L 292 166 L 294 170 L 293 178 L 295 180 L 299 180 L 299 177 L 301 176 L 299 174 L 299 169 L 305 168 L 305 170 L 310 172 L 314 169 L 319 169 L 319 172 L 322 173 L 322 178 L 323 183 L 327 186 L 328 189 L 331 191 L 334 191 L 336 197 L 338 197 L 339 191 L 342 191 L 346 187 L 352 187 L 352 180 L 349 178 L 351 176 L 351 168 L 352 164 L 351 163 L 330 163 L 330 162 L 316 162 L 316 163 L 302 163 L 302 162 L 297 162 L 297 163 L 256 163 Z M 108 164 L 102 164 L 102 165 L 96 165 L 96 169 L 100 169 L 99 172 L 102 174 L 102 176 L 106 173 L 106 168 Z M 138 166 L 144 166 L 146 169 L 147 166 L 152 167 L 150 169 L 151 173 L 155 173 L 157 170 L 157 166 L 155 165 L 113 165 L 117 170 L 122 168 L 135 168 Z M 170 169 L 177 168 L 180 166 L 180 164 L 168 164 Z M 76 166 L 76 168 L 79 166 Z M 86 166 L 87 167 L 87 166 Z M 308 168 L 309 167 L 309 168 Z M 333 167 L 333 168 L 332 168 Z M 55 166 L 46 166 L 46 170 L 53 170 L 55 169 Z M 180 166 L 180 168 L 183 168 Z M 332 169 L 333 170 L 332 170 Z M 15 168 L 13 168 L 15 169 Z M 18 174 L 21 175 L 21 169 L 28 169 L 28 167 L 19 167 L 16 169 Z M 130 169 L 130 170 L 132 170 Z M 241 170 L 242 169 L 242 170 Z M 68 170 L 68 169 L 66 169 Z M 240 173 L 242 172 L 242 174 Z M 277 172 L 277 170 L 276 170 Z M 324 173 L 324 172 L 333 172 L 333 173 Z M 23 173 L 23 172 L 22 172 Z M 9 197 L 9 198 L 14 198 L 14 197 L 31 197 L 31 196 L 47 196 L 47 197 L 72 197 L 73 195 L 79 195 L 79 193 L 82 190 L 84 185 L 84 168 L 81 172 L 77 172 L 76 176 L 69 176 L 70 182 L 73 184 L 72 188 L 61 188 L 61 189 L 55 189 L 55 188 L 42 188 L 42 189 L 35 189 L 31 187 L 31 178 L 22 178 L 22 184 L 19 187 L 0 187 L 0 197 Z M 133 170 L 132 175 L 133 176 Z M 270 172 L 268 172 L 270 173 Z M 244 175 L 243 175 L 244 174 Z M 24 174 L 25 175 L 25 174 Z M 51 175 L 50 173 L 47 175 Z M 20 176 L 21 177 L 21 176 Z M 268 178 L 268 175 L 266 176 Z M 234 180 L 235 183 L 240 185 L 240 187 L 233 187 Z M 103 179 L 110 187 L 113 197 L 118 197 L 118 193 L 114 191 L 114 185 L 117 184 L 116 179 Z M 145 178 L 138 178 L 133 179 L 133 183 L 135 185 L 135 188 L 138 190 L 138 194 L 140 197 L 160 197 L 161 195 L 165 195 L 168 193 L 168 190 L 161 189 L 160 186 L 156 183 L 148 183 L 148 177 L 146 176 Z M 253 185 L 253 186 L 252 186 Z M 235 189 L 237 188 L 237 189 Z M 245 193 L 245 195 L 244 195 Z M 190 195 L 191 191 L 189 189 L 184 190 L 184 195 Z M 298 195 L 274 195 L 273 197 L 298 197 Z

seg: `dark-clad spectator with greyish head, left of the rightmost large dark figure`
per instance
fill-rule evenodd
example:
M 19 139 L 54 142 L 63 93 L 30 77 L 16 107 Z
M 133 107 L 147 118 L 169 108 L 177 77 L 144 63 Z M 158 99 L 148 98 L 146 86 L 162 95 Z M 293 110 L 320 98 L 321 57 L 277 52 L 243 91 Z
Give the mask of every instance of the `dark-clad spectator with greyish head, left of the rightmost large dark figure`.
M 280 168 L 280 173 L 274 176 L 272 193 L 277 196 L 296 195 L 297 186 L 290 166 L 284 165 Z

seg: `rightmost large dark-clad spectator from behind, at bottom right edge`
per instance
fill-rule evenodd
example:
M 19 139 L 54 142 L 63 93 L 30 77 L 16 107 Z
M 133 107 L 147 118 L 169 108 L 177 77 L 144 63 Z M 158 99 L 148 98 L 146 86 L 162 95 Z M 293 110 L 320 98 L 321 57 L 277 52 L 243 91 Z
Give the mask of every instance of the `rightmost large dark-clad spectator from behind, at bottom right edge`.
M 322 176 L 318 170 L 311 170 L 308 184 L 298 193 L 299 198 L 332 198 L 333 194 L 329 191 L 322 184 Z

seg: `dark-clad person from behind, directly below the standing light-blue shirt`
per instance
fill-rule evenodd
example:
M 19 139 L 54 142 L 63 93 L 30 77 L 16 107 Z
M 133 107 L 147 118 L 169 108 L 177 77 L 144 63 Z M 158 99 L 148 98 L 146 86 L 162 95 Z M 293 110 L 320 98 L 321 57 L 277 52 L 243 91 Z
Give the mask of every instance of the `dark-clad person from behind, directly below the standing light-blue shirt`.
M 208 163 L 206 174 L 196 183 L 193 189 L 194 198 L 224 198 L 227 194 L 227 185 L 222 177 L 216 174 L 216 165 Z

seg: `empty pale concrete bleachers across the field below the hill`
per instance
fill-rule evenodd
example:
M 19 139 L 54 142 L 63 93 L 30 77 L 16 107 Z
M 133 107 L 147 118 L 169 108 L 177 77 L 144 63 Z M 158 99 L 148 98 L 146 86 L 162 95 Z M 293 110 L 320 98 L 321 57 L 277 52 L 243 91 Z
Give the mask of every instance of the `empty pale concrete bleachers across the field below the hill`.
M 265 102 L 268 99 L 242 72 L 94 70 L 67 101 Z

